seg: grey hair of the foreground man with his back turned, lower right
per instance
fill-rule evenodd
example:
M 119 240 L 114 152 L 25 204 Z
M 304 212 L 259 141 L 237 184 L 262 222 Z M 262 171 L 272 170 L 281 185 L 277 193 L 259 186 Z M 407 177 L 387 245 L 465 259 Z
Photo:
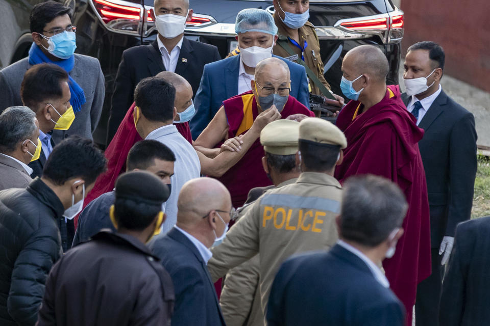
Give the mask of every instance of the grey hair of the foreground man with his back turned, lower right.
M 395 183 L 374 176 L 354 176 L 344 183 L 340 208 L 340 236 L 376 247 L 401 227 L 408 204 Z

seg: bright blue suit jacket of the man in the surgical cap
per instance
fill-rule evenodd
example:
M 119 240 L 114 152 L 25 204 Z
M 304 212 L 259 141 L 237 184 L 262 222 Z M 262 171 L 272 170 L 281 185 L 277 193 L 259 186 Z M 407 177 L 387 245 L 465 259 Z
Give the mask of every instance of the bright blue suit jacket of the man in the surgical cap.
M 301 104 L 310 107 L 310 93 L 306 70 L 300 64 L 282 59 L 289 67 L 291 75 L 291 92 Z M 238 95 L 238 77 L 240 72 L 240 55 L 219 60 L 204 67 L 199 90 L 195 94 L 195 110 L 197 113 L 190 121 L 192 138 L 197 139 L 204 128 L 214 118 L 223 105 L 223 101 Z

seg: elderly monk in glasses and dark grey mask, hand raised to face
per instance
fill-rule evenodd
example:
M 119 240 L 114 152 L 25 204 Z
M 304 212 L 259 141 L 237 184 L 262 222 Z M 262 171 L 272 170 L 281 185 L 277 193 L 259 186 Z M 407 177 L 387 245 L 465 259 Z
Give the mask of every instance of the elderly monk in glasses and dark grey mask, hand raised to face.
M 194 148 L 214 157 L 219 153 L 220 145 L 246 133 L 256 118 L 265 114 L 275 115 L 275 119 L 295 114 L 313 117 L 306 106 L 289 95 L 290 84 L 289 68 L 284 61 L 277 58 L 262 60 L 255 68 L 252 91 L 225 100 L 195 140 Z M 257 139 L 238 163 L 219 178 L 230 191 L 234 207 L 243 205 L 250 189 L 272 184 L 262 168 L 263 155 L 264 150 Z

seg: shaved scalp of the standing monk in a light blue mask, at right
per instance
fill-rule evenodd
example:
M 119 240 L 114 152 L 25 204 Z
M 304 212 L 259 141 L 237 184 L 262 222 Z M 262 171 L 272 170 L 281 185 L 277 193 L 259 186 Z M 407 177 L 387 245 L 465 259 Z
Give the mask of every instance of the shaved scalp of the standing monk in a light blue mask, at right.
M 388 60 L 384 53 L 373 45 L 360 45 L 347 52 L 342 62 L 342 71 L 352 75 L 366 74 L 374 82 L 385 83 L 389 72 Z

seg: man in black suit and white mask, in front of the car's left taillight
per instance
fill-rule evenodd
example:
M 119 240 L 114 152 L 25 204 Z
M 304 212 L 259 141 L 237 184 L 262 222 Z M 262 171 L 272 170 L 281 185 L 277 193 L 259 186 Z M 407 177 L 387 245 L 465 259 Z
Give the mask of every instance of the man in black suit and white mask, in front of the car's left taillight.
M 111 100 L 106 145 L 133 103 L 133 93 L 141 79 L 161 71 L 175 72 L 189 82 L 192 94 L 196 94 L 204 65 L 221 59 L 216 46 L 184 36 L 186 22 L 191 20 L 193 13 L 189 0 L 155 0 L 154 12 L 158 31 L 155 41 L 122 53 Z

